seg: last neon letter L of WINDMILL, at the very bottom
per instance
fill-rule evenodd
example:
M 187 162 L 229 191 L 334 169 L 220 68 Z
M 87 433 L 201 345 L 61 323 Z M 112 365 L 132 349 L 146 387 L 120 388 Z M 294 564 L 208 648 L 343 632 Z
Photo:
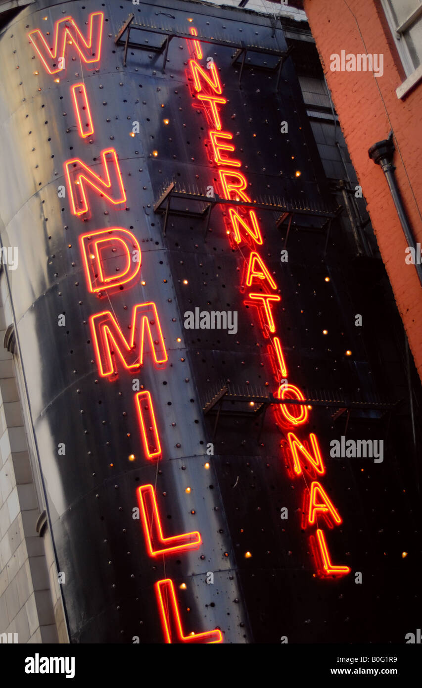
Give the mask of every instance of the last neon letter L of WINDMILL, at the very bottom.
M 164 638 L 166 643 L 222 643 L 223 635 L 221 630 L 216 628 L 214 631 L 205 633 L 192 633 L 184 636 L 181 627 L 179 608 L 177 606 L 175 585 L 170 578 L 155 583 L 159 614 L 162 620 Z

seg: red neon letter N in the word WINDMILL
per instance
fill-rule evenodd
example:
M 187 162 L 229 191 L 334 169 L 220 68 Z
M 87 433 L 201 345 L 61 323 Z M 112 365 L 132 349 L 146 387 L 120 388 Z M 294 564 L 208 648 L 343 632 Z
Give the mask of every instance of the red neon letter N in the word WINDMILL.
M 85 195 L 85 182 L 103 195 L 114 205 L 126 201 L 122 175 L 118 162 L 118 154 L 113 148 L 101 151 L 102 166 L 104 168 L 105 182 L 95 172 L 82 162 L 80 158 L 66 160 L 64 164 L 67 191 L 70 193 L 71 211 L 74 215 L 82 215 L 88 210 L 87 196 Z M 113 178 L 110 177 L 110 171 Z M 109 193 L 111 192 L 111 193 Z

